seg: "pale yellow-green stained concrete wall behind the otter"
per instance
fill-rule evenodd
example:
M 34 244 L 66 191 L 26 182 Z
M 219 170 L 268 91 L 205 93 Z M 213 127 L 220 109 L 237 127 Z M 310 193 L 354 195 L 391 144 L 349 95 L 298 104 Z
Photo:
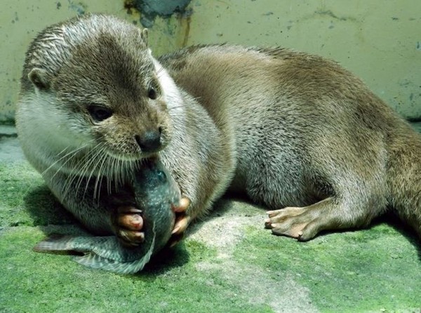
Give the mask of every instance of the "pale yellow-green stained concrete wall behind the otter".
M 141 18 L 123 8 L 140 1 L 8 2 L 0 10 L 0 41 L 6 43 L 0 50 L 0 121 L 13 118 L 25 49 L 36 32 L 81 11 Z M 189 8 L 191 15 L 154 20 L 154 54 L 220 42 L 317 53 L 360 76 L 403 116 L 421 117 L 420 0 L 192 0 Z

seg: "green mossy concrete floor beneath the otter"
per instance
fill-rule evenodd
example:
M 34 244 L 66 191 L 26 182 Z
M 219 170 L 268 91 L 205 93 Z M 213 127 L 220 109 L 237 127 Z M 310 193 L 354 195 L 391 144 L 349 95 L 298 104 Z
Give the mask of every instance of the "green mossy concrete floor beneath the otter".
M 35 253 L 46 235 L 83 229 L 0 126 L 0 312 L 421 312 L 421 244 L 396 218 L 301 243 L 265 216 L 225 197 L 135 275 Z

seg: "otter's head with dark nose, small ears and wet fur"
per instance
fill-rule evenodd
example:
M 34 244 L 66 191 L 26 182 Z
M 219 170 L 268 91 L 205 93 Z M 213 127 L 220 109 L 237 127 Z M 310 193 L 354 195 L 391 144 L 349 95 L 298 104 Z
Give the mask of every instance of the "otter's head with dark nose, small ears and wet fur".
M 34 93 L 51 117 L 48 129 L 60 133 L 69 149 L 84 145 L 136 161 L 171 140 L 171 97 L 162 85 L 167 74 L 158 67 L 146 30 L 111 16 L 87 15 L 48 27 L 34 40 L 22 93 Z

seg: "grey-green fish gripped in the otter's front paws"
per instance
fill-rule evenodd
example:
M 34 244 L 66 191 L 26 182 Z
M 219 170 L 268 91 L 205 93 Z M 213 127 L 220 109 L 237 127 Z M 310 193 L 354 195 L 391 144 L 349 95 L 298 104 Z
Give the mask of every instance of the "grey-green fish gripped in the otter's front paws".
M 180 188 L 159 159 L 149 160 L 134 174 L 135 203 L 144 221 L 145 240 L 137 247 L 123 246 L 116 236 L 53 235 L 34 247 L 37 252 L 76 251 L 73 259 L 93 269 L 117 274 L 140 272 L 152 255 L 159 252 L 171 237 L 175 213 L 180 205 Z

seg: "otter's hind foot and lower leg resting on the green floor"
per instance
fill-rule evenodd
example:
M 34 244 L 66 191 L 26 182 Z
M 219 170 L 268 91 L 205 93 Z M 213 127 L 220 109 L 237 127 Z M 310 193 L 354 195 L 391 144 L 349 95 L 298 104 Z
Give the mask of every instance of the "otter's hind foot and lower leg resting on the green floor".
M 346 201 L 329 197 L 305 207 L 286 207 L 268 211 L 265 226 L 273 234 L 307 241 L 323 230 L 366 227 L 380 210 L 352 207 Z

